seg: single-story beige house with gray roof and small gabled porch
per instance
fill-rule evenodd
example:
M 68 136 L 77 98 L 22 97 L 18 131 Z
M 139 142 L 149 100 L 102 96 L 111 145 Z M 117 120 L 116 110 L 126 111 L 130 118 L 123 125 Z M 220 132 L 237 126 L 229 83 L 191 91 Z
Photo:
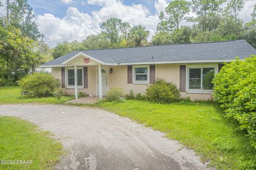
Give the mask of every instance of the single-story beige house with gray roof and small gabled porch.
M 156 78 L 173 82 L 181 97 L 212 99 L 211 80 L 223 63 L 256 54 L 245 40 L 77 50 L 41 67 L 51 67 L 66 94 L 79 91 L 102 98 L 112 87 L 145 93 Z

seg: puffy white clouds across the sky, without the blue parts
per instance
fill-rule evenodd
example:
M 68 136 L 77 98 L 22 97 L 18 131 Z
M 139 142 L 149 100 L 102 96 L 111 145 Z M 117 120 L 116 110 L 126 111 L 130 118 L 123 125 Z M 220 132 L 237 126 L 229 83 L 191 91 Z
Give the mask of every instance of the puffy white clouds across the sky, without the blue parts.
M 72 0 L 60 1 L 68 2 Z M 256 1 L 244 1 L 244 10 L 239 13 L 239 18 L 248 22 L 251 20 L 250 14 Z M 75 2 L 77 1 L 74 0 Z M 87 4 L 102 7 L 98 11 L 93 11 L 91 15 L 79 12 L 75 7 L 69 7 L 63 19 L 52 14 L 44 14 L 38 15 L 36 20 L 39 31 L 45 35 L 44 40 L 52 46 L 62 41 L 82 41 L 89 35 L 100 33 L 99 25 L 109 18 L 119 18 L 132 25 L 143 25 L 150 31 L 151 38 L 159 22 L 158 15 L 165 10 L 168 2 L 169 0 L 156 0 L 154 5 L 156 13 L 151 14 L 148 8 L 142 4 L 125 5 L 121 0 L 87 0 Z M 194 16 L 195 13 L 190 12 L 191 15 Z M 189 24 L 191 23 L 181 22 L 181 25 Z

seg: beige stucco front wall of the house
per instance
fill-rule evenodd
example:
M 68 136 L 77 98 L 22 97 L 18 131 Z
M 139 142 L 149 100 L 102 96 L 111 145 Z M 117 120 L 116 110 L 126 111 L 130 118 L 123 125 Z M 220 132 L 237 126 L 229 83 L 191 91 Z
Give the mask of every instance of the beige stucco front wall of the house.
M 88 66 L 88 89 L 78 89 L 86 94 L 96 95 L 96 67 Z M 108 66 L 113 72 L 108 73 L 108 89 L 112 87 L 120 87 L 124 89 L 125 94 L 133 90 L 135 94 L 145 94 L 145 90 L 150 84 L 132 84 L 127 83 L 127 66 Z M 52 68 L 52 74 L 55 78 L 61 80 L 61 68 Z M 158 64 L 156 65 L 156 78 L 163 78 L 169 82 L 173 82 L 179 88 L 180 86 L 180 65 L 179 64 Z M 66 94 L 74 94 L 74 89 L 63 89 Z M 211 94 L 188 94 L 180 92 L 182 98 L 189 97 L 191 100 L 212 100 Z

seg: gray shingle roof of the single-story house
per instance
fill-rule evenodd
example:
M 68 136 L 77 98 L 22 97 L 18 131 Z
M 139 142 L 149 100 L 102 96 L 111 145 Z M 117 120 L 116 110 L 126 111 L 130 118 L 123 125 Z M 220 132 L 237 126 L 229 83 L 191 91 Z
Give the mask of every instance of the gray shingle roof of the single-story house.
M 177 45 L 159 45 L 130 48 L 110 48 L 81 50 L 68 53 L 56 58 L 42 66 L 61 65 L 70 57 L 82 52 L 103 63 L 151 63 L 151 62 L 190 62 L 193 61 L 227 61 L 234 60 L 236 56 L 243 59 L 256 49 L 245 40 L 220 41 L 214 43 L 191 43 Z

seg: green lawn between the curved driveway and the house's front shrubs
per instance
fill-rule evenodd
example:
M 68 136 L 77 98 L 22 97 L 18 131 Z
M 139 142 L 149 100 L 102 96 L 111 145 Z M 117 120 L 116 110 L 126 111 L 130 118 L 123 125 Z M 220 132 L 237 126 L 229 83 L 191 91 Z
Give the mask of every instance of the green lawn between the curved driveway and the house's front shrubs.
M 238 125 L 223 117 L 225 114 L 214 103 L 181 101 L 161 105 L 124 100 L 97 106 L 165 132 L 166 137 L 194 149 L 203 162 L 211 160 L 210 166 L 216 169 L 255 168 L 251 159 L 256 158 L 256 150 L 239 132 Z

